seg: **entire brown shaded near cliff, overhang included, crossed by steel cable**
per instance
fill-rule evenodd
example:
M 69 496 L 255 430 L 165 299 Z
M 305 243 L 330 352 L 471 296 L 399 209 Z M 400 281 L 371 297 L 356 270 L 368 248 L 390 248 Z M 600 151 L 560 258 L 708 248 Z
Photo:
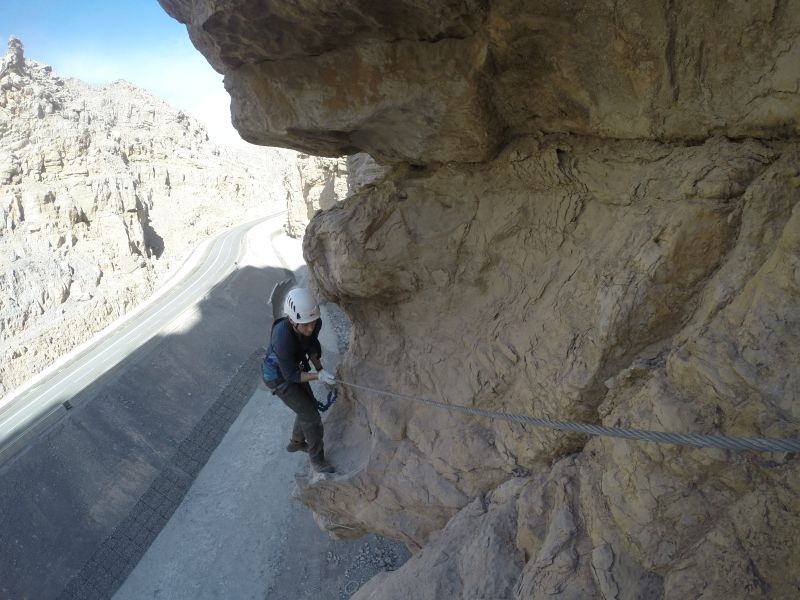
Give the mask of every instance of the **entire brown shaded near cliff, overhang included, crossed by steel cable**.
M 160 0 L 257 143 L 391 172 L 318 214 L 339 376 L 626 428 L 800 436 L 796 3 Z M 800 460 L 587 438 L 344 387 L 364 598 L 791 598 Z

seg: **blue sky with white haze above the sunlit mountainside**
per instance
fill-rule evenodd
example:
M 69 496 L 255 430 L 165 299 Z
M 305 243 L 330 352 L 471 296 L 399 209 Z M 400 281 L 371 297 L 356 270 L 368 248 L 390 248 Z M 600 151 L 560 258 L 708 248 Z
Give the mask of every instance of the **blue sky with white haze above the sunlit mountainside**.
M 25 56 L 94 85 L 125 79 L 200 119 L 220 141 L 238 139 L 222 75 L 156 0 L 0 0 Z

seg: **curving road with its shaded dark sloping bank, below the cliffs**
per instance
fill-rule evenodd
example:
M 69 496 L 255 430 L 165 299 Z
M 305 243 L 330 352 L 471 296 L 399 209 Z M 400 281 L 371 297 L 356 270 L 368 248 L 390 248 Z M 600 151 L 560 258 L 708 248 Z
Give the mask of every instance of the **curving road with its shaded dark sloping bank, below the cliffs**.
M 90 572 L 115 589 L 169 519 L 253 393 L 270 290 L 293 276 L 287 260 L 302 264 L 275 216 L 209 240 L 4 399 L 0 598 L 85 598 Z

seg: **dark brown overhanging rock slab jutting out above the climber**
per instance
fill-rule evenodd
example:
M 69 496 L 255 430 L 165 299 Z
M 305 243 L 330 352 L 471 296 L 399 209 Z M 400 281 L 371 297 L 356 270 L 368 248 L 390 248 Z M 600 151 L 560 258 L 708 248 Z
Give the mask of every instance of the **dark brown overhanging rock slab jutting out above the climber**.
M 475 162 L 520 134 L 702 140 L 800 125 L 791 3 L 161 0 L 253 143 Z

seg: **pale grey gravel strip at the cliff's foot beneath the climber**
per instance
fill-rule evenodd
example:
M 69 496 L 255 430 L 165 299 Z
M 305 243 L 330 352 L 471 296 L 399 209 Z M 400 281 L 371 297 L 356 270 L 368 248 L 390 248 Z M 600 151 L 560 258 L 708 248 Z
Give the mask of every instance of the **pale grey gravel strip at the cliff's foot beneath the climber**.
M 331 369 L 341 346 L 333 308 L 322 307 L 320 335 Z M 293 499 L 296 475 L 309 474 L 306 454 L 284 450 L 293 419 L 255 390 L 113 600 L 344 600 L 407 559 L 402 544 L 376 535 L 332 540 Z M 335 455 L 336 440 L 326 444 Z

